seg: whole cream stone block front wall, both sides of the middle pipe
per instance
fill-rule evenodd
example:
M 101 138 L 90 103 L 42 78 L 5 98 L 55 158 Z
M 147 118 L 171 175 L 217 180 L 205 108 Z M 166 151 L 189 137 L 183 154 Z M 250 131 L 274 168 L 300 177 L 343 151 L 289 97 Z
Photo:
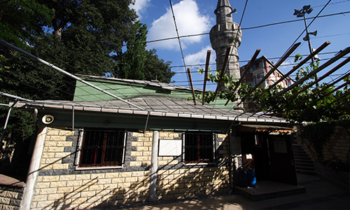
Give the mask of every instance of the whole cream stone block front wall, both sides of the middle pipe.
M 123 167 L 77 169 L 79 130 L 48 128 L 31 209 L 84 209 L 148 199 L 153 132 L 128 131 Z M 226 135 L 216 134 L 216 164 L 185 165 L 181 157 L 159 157 L 158 196 L 162 199 L 228 190 Z M 181 139 L 160 132 L 160 139 Z M 171 189 L 171 190 L 169 190 Z

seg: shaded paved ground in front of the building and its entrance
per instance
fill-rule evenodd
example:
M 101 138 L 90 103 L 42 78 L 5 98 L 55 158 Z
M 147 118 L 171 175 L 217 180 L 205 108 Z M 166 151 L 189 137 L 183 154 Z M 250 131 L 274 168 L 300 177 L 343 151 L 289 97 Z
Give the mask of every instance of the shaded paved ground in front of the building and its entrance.
M 241 195 L 222 194 L 193 197 L 186 200 L 158 201 L 143 204 L 128 204 L 103 209 L 130 210 L 179 210 L 179 209 L 350 209 L 350 193 L 318 176 L 297 174 L 300 186 L 307 193 L 279 197 L 259 202 Z

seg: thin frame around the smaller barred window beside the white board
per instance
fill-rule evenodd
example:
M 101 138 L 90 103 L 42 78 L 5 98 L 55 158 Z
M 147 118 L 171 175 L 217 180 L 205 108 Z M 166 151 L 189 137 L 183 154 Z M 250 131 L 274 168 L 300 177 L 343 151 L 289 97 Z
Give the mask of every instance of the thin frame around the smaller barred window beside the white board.
M 212 146 L 212 160 L 209 160 L 209 162 L 201 161 L 201 160 L 186 160 L 186 134 L 208 134 L 211 137 L 211 146 Z M 182 134 L 183 139 L 183 162 L 185 165 L 215 165 L 216 161 L 216 135 L 214 132 L 183 132 Z M 198 148 L 197 148 L 197 152 Z

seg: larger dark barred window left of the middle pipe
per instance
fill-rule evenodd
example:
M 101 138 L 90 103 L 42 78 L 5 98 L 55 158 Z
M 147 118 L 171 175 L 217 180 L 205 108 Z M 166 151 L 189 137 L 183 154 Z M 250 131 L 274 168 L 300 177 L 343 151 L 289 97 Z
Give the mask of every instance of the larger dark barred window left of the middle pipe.
M 80 167 L 121 166 L 125 130 L 84 130 Z

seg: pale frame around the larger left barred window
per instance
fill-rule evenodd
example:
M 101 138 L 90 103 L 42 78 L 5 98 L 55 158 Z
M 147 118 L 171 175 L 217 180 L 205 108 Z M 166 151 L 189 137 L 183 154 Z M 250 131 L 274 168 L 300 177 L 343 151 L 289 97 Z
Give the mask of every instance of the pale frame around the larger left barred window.
M 84 166 L 81 164 L 81 159 L 83 157 L 83 144 L 84 144 L 84 137 L 85 137 L 85 132 L 87 131 L 97 131 L 97 132 L 123 132 L 123 144 L 120 144 L 120 146 L 123 145 L 122 148 L 122 154 L 121 154 L 121 161 L 120 163 L 118 162 L 113 162 L 113 163 L 106 163 L 107 165 L 90 165 L 90 166 Z M 104 141 L 107 141 L 104 139 Z M 118 128 L 97 128 L 97 127 L 88 127 L 81 129 L 79 131 L 79 137 L 78 137 L 78 148 L 77 148 L 77 155 L 76 155 L 76 160 L 74 164 L 76 165 L 77 170 L 85 170 L 85 169 L 116 169 L 116 168 L 123 168 L 123 165 L 125 163 L 125 149 L 126 149 L 126 141 L 127 141 L 127 130 L 125 129 L 118 129 Z M 106 145 L 106 142 L 104 142 L 104 145 Z M 106 148 L 103 148 L 105 150 Z

